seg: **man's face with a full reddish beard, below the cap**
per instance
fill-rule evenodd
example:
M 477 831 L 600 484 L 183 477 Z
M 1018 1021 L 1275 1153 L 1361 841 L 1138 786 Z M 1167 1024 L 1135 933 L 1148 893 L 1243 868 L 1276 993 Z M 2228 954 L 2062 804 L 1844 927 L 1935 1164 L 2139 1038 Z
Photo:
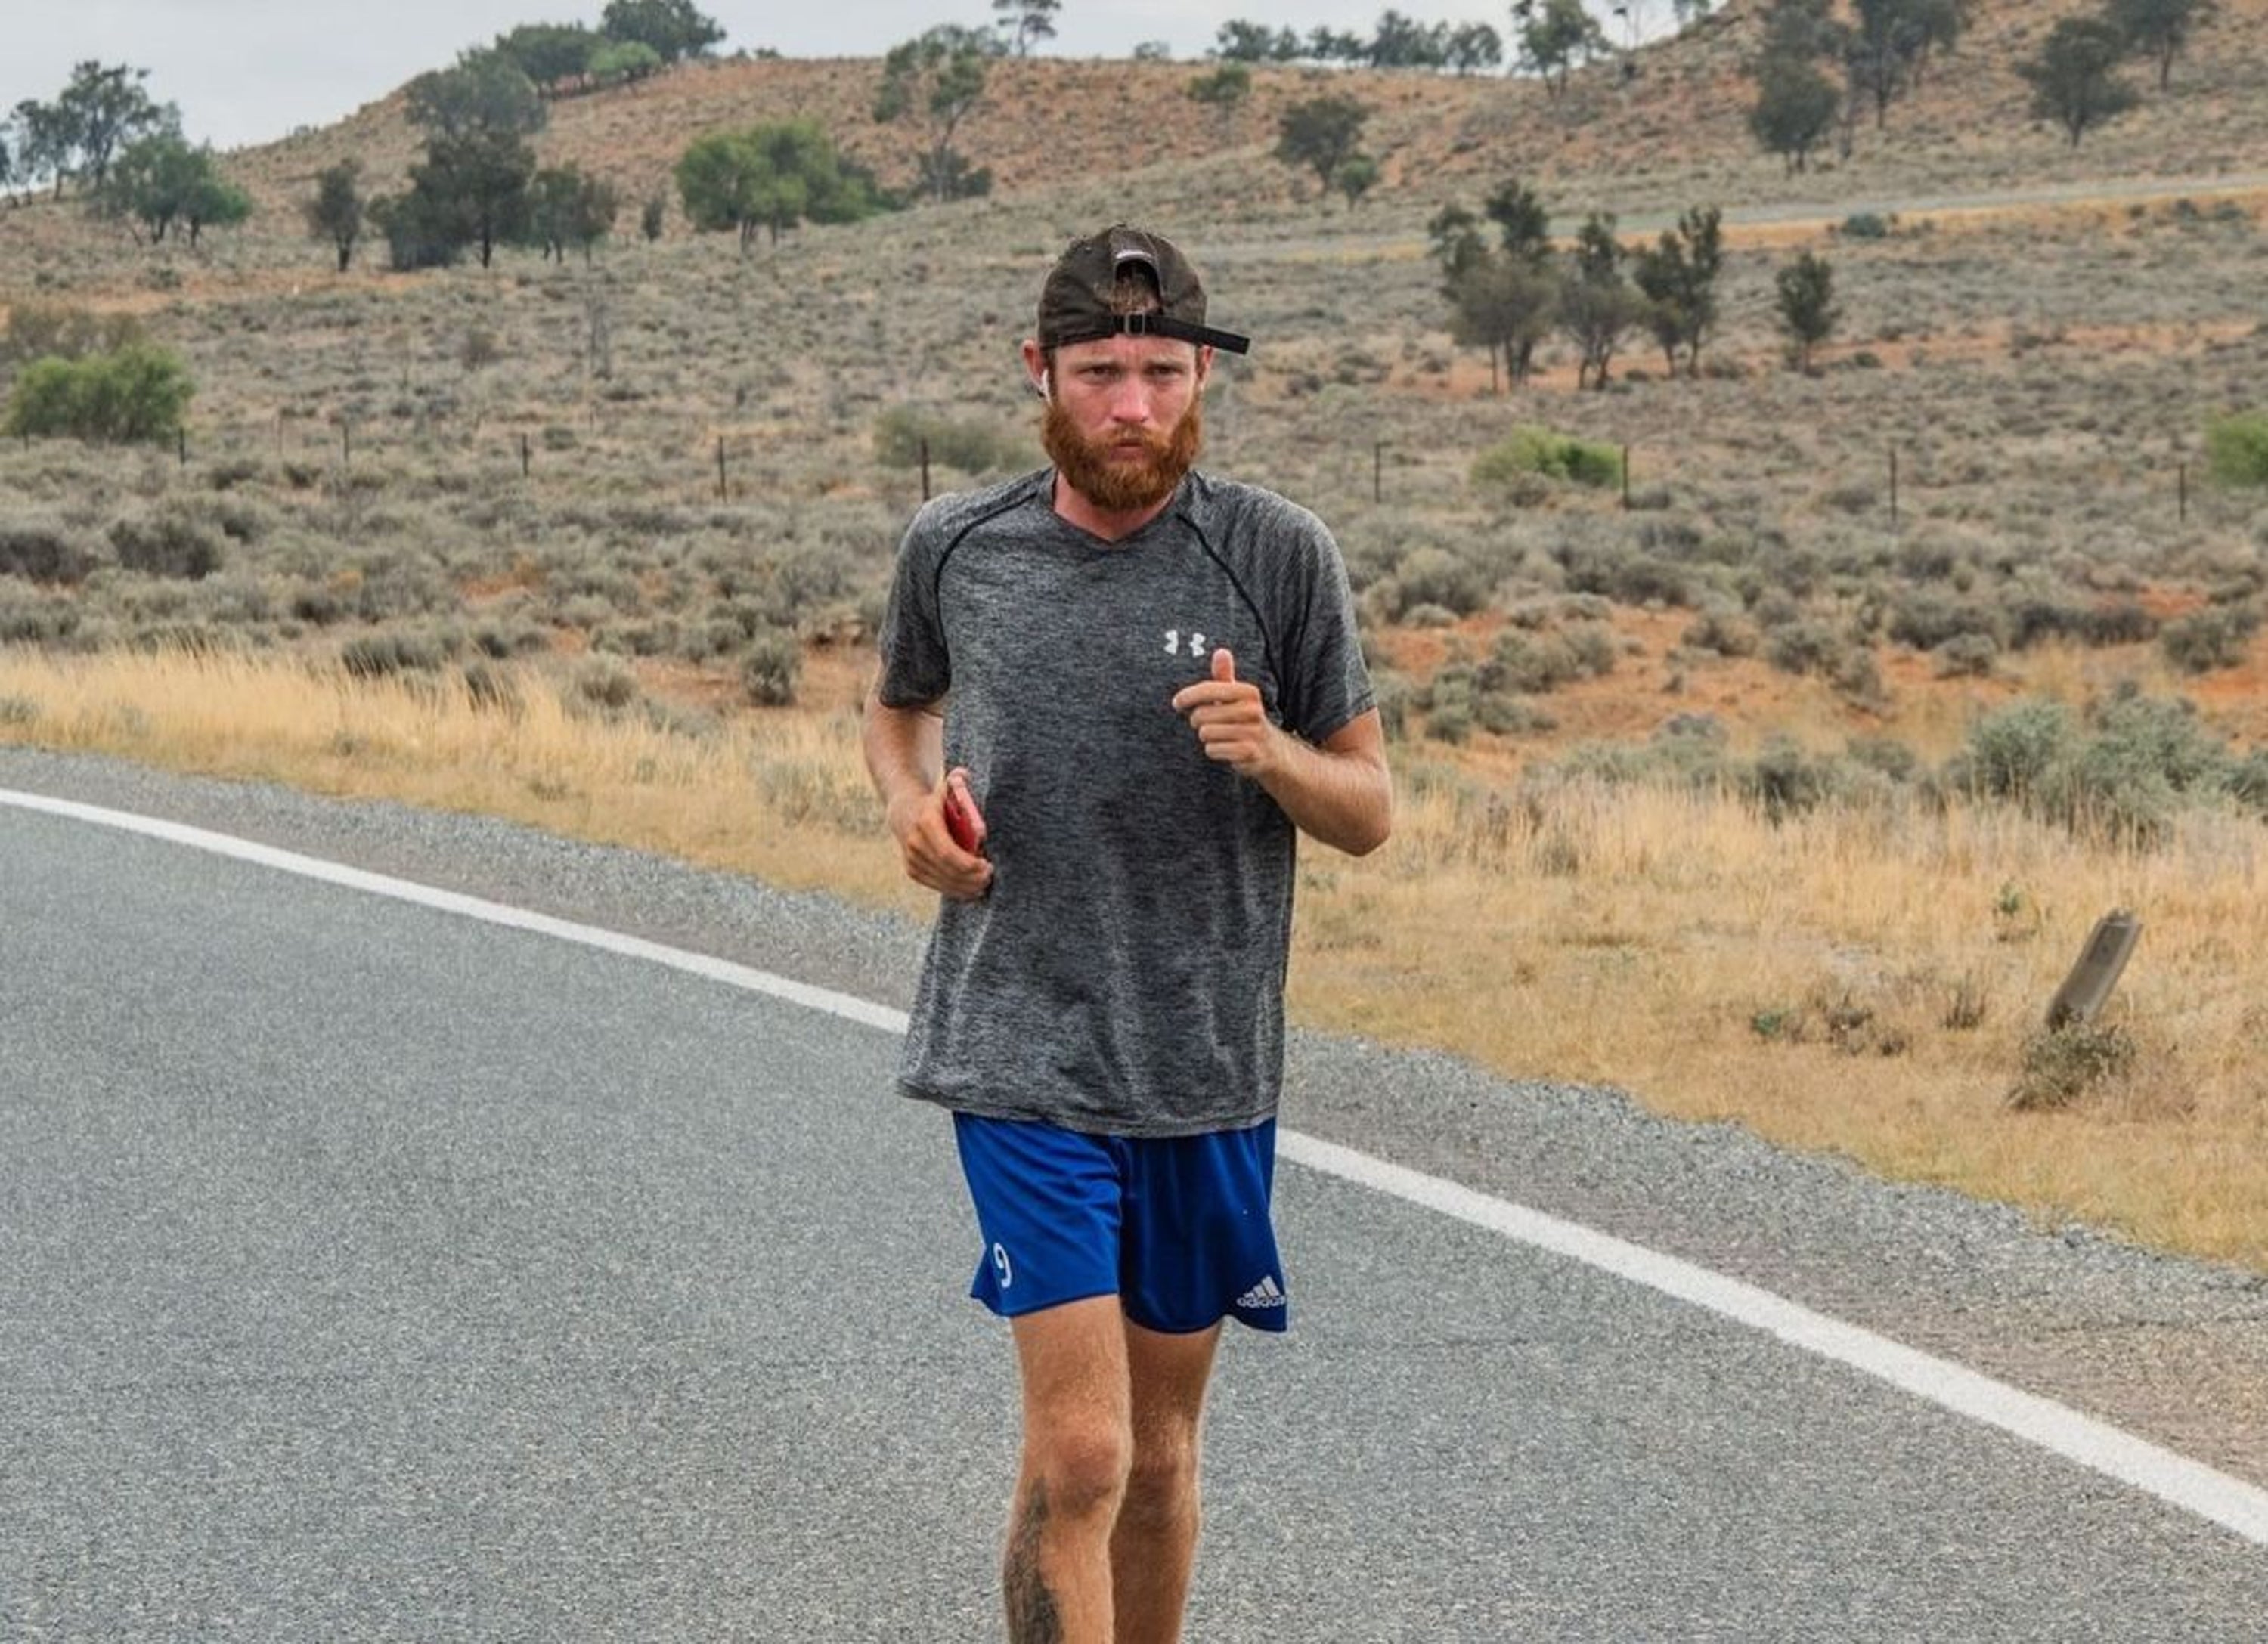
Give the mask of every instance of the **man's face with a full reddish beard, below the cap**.
M 1154 508 L 1198 460 L 1207 354 L 1175 338 L 1098 338 L 1055 351 L 1041 444 L 1105 512 Z

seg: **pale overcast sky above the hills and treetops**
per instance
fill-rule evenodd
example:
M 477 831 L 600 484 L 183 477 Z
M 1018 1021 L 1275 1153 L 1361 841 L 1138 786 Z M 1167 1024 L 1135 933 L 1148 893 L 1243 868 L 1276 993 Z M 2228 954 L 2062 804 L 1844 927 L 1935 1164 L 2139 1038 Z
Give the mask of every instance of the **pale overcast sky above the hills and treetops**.
M 84 59 L 147 68 L 147 88 L 175 102 L 195 141 L 265 143 L 329 125 L 411 75 L 442 68 L 519 23 L 596 25 L 606 0 L 0 0 L 0 113 L 48 100 Z M 1166 41 L 1202 57 L 1229 18 L 1306 32 L 1318 23 L 1368 36 L 1388 7 L 1424 23 L 1488 23 L 1510 34 L 1510 0 L 1064 0 L 1059 57 L 1129 57 Z M 1601 16 L 1615 0 L 1592 0 Z M 1669 0 L 1642 0 L 1667 16 Z M 717 0 L 726 52 L 880 57 L 932 23 L 984 25 L 991 0 Z

